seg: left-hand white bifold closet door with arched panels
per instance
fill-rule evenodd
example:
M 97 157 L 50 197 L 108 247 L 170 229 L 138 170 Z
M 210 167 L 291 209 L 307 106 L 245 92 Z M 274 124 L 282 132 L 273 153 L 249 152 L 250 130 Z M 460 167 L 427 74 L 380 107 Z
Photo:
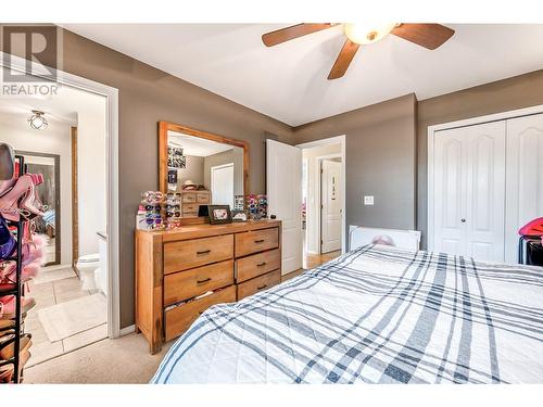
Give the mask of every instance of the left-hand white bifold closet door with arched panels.
M 435 133 L 434 251 L 504 260 L 505 133 L 505 122 Z

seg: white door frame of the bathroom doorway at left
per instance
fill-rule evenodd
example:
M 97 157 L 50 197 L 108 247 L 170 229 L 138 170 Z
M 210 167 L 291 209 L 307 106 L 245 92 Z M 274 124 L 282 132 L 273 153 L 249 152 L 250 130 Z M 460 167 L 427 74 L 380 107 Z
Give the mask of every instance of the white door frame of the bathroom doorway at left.
M 16 55 L 0 52 L 0 66 L 16 71 L 23 75 L 42 78 L 51 82 L 52 68 L 27 61 Z M 28 68 L 31 74 L 28 74 Z M 105 98 L 105 138 L 106 138 L 106 228 L 108 228 L 108 335 L 118 338 L 134 332 L 134 326 L 121 330 L 121 291 L 119 291 L 119 221 L 118 221 L 118 89 L 53 69 L 56 84 L 70 86 Z M 23 76 L 22 75 L 22 76 Z

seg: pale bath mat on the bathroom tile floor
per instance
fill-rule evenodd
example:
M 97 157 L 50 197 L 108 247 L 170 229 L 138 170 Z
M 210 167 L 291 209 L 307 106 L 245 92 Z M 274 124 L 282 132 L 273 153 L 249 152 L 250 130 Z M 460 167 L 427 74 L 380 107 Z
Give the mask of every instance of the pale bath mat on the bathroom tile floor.
M 102 294 L 87 295 L 38 311 L 50 342 L 62 341 L 108 321 L 108 304 Z

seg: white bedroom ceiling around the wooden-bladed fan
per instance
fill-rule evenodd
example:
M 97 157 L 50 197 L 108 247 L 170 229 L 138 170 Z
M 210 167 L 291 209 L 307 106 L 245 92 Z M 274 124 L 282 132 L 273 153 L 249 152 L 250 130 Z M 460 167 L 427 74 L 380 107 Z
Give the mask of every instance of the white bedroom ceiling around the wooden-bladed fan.
M 288 24 L 287 24 L 288 25 Z M 415 92 L 419 100 L 543 68 L 543 25 L 446 24 L 434 51 L 388 36 L 326 77 L 342 26 L 266 48 L 269 24 L 63 24 L 202 88 L 298 126 Z

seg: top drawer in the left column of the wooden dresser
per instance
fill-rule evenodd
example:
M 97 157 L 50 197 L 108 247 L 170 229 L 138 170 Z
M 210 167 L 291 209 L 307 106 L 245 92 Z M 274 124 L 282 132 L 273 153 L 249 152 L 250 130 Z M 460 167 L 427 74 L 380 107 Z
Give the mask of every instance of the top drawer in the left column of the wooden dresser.
M 164 243 L 164 274 L 233 257 L 233 234 Z

